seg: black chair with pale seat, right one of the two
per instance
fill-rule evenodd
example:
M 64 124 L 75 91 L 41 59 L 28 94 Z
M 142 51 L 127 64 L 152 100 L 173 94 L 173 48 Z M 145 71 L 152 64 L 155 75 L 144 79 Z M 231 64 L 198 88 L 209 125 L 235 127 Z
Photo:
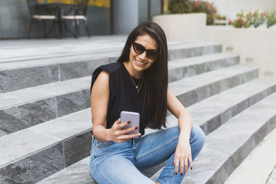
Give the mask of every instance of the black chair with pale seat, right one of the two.
M 65 35 L 66 35 L 66 31 L 68 31 L 74 37 L 79 37 L 79 21 L 83 21 L 86 28 L 86 34 L 88 37 L 90 37 L 88 24 L 87 24 L 87 17 L 86 17 L 87 6 L 88 6 L 88 0 L 74 0 L 70 10 L 62 13 L 61 21 L 63 21 L 65 26 Z M 74 32 L 68 29 L 66 24 L 67 21 L 72 21 L 72 25 L 75 30 Z

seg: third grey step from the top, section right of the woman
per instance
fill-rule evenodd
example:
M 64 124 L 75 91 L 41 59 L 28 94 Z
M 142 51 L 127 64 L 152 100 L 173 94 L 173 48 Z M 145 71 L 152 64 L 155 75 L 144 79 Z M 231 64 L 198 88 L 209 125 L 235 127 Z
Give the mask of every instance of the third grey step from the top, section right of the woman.
M 257 76 L 258 68 L 234 65 L 174 81 L 168 85 L 184 106 L 190 106 Z

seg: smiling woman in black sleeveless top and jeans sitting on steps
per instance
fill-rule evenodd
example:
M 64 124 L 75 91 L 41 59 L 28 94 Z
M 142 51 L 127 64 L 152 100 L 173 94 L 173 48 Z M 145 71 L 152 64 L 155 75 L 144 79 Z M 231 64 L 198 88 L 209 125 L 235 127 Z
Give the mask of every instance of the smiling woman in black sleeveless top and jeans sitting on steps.
M 166 127 L 167 109 L 178 126 Z M 121 111 L 139 112 L 139 134 Z M 145 22 L 126 41 L 117 63 L 95 69 L 91 83 L 93 123 L 90 172 L 98 183 L 155 183 L 139 170 L 167 161 L 156 183 L 181 183 L 204 144 L 204 132 L 168 89 L 168 49 L 164 31 Z M 144 135 L 145 127 L 159 129 Z

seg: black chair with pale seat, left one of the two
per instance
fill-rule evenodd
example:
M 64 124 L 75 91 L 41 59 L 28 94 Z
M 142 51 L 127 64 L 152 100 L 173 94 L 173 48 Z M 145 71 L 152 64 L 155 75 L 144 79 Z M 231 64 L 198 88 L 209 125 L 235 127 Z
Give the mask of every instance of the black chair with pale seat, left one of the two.
M 27 0 L 28 8 L 30 11 L 30 25 L 28 30 L 28 38 L 30 37 L 30 32 L 32 29 L 32 23 L 33 21 L 39 21 L 43 23 L 43 34 L 44 37 L 47 37 L 50 32 L 55 27 L 55 23 L 58 22 L 58 12 L 56 8 L 47 8 L 46 6 L 43 6 L 37 2 L 37 0 Z M 46 21 L 52 21 L 52 27 L 50 30 L 46 33 Z

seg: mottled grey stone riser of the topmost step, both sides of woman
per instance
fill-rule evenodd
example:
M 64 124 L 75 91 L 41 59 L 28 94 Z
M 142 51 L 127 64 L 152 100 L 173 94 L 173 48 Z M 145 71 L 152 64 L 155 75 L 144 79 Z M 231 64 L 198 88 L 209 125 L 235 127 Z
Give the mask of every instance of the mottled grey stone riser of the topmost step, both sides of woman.
M 212 45 L 210 48 L 205 48 L 205 50 L 212 50 L 212 53 L 221 52 L 222 46 L 216 46 Z M 188 52 L 188 54 L 186 53 Z M 170 54 L 172 53 L 172 54 Z M 168 60 L 171 59 L 179 59 L 181 57 L 193 57 L 197 55 L 206 54 L 204 53 L 204 49 L 202 48 L 195 48 L 194 50 L 187 50 L 187 49 L 180 49 L 180 50 L 172 50 L 169 52 Z M 106 56 L 112 56 L 110 58 Z M 171 55 L 171 57 L 170 57 Z M 92 73 L 92 70 L 95 69 L 95 65 L 101 65 L 102 63 L 112 63 L 117 60 L 119 57 L 119 53 L 115 56 L 112 53 L 106 53 L 98 55 L 98 58 L 88 57 L 79 59 L 76 58 L 75 60 L 72 60 L 71 57 L 68 57 L 67 59 L 64 59 L 64 61 L 47 61 L 41 60 L 41 61 L 22 61 L 21 64 L 17 63 L 14 64 L 14 66 L 17 67 L 17 69 L 14 70 L 2 70 L 0 71 L 0 79 L 3 81 L 3 86 L 0 88 L 0 92 L 10 92 L 14 90 L 19 90 L 22 88 L 28 88 L 30 86 L 36 86 L 41 85 L 45 83 L 52 83 L 57 81 L 65 81 L 68 79 L 75 79 L 78 77 L 83 76 L 90 76 Z M 93 59 L 91 59 L 93 58 Z M 32 67 L 28 67 L 32 63 Z M 44 64 L 41 64 L 44 63 Z M 28 64 L 28 65 L 27 65 Z M 20 66 L 21 65 L 21 68 Z M 23 65 L 23 68 L 22 68 Z M 34 66 L 37 65 L 37 66 Z M 4 68 L 5 65 L 1 65 L 1 68 Z M 88 70 L 89 69 L 89 70 Z M 68 70 L 70 72 L 68 73 Z M 28 74 L 26 76 L 26 74 Z M 3 77 L 5 76 L 5 77 Z M 7 77 L 8 76 L 8 77 Z M 21 76 L 26 76 L 22 78 Z M 34 78 L 35 76 L 35 78 Z M 43 79 L 43 80 L 37 80 L 37 79 Z M 10 80 L 12 79 L 12 80 Z M 4 83 L 6 81 L 6 84 Z M 21 83 L 23 85 L 17 85 L 17 83 Z M 4 85 L 5 84 L 5 85 Z

